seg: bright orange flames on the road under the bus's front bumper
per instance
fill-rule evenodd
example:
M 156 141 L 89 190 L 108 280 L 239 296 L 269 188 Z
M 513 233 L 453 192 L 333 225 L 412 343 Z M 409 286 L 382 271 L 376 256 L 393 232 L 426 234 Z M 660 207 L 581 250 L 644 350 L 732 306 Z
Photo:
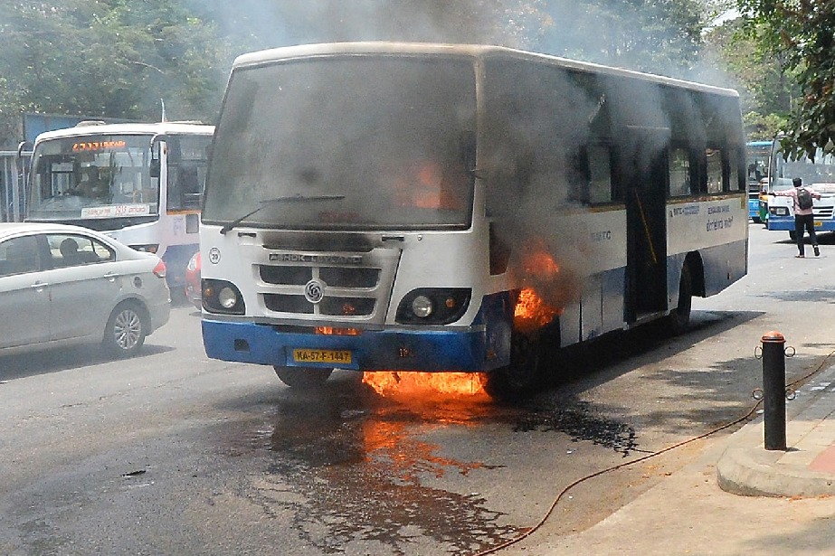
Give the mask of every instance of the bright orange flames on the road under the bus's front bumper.
M 379 395 L 487 396 L 487 375 L 480 372 L 364 372 L 363 382 Z

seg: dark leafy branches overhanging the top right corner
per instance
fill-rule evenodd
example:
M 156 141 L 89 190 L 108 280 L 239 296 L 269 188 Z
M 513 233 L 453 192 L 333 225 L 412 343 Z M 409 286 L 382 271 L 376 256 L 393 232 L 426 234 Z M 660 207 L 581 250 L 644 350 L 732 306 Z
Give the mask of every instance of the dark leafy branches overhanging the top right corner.
M 801 96 L 783 146 L 787 153 L 835 151 L 835 3 L 739 0 L 748 32 L 796 75 Z

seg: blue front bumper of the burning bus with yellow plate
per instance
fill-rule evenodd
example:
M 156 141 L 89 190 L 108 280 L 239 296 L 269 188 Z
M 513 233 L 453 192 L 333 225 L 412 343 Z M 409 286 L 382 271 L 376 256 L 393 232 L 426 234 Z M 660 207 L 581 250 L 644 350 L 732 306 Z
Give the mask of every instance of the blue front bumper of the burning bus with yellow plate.
M 479 329 L 315 335 L 254 323 L 202 322 L 206 355 L 223 361 L 356 371 L 483 372 L 509 360 L 509 345 L 489 346 L 497 342 L 489 342 Z

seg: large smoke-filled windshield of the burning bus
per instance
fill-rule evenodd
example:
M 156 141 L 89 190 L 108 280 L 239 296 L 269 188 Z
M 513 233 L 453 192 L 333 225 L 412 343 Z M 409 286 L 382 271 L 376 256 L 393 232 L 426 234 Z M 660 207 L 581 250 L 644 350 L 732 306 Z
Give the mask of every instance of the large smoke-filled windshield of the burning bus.
M 475 95 L 474 67 L 463 59 L 318 57 L 240 68 L 218 125 L 203 220 L 468 227 Z

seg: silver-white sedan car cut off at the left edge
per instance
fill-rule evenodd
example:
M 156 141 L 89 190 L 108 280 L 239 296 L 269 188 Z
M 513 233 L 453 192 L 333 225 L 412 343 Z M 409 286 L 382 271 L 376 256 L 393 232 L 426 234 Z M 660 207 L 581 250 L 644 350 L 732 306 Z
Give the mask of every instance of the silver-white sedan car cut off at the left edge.
M 156 255 L 77 226 L 0 223 L 0 354 L 101 342 L 128 357 L 170 310 Z

